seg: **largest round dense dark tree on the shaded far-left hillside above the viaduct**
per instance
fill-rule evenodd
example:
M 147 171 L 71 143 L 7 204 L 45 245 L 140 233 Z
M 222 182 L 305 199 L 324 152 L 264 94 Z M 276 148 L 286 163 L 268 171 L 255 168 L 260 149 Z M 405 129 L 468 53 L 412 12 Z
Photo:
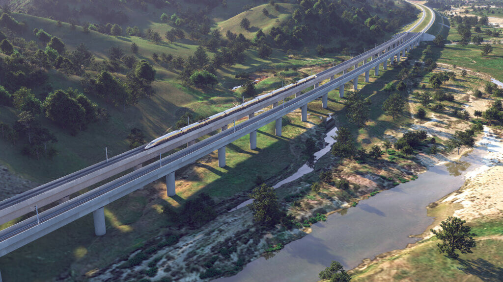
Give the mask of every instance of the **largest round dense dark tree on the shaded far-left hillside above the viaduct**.
M 85 123 L 86 110 L 63 90 L 50 93 L 44 100 L 45 116 L 63 128 L 75 130 Z

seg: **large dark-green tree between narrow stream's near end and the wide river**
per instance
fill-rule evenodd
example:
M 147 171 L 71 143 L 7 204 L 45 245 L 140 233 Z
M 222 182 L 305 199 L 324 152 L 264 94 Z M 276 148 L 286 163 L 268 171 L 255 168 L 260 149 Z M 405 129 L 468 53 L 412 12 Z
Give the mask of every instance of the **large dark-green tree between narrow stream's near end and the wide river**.
M 272 227 L 281 222 L 286 213 L 281 210 L 274 188 L 262 184 L 248 195 L 253 200 L 248 205 L 254 214 L 254 221 Z

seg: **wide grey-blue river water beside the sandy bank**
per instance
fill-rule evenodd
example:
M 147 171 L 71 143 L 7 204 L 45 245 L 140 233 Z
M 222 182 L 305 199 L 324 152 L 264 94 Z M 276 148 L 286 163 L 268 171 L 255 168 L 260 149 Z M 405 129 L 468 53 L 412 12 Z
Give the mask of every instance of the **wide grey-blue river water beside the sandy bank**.
M 242 271 L 215 282 L 310 282 L 332 260 L 346 269 L 365 258 L 404 248 L 433 223 L 426 206 L 459 189 L 464 174 L 482 166 L 485 150 L 476 149 L 456 163 L 431 167 L 415 181 L 383 191 L 356 207 L 334 213 L 312 232 L 285 246 L 275 256 L 260 257 Z

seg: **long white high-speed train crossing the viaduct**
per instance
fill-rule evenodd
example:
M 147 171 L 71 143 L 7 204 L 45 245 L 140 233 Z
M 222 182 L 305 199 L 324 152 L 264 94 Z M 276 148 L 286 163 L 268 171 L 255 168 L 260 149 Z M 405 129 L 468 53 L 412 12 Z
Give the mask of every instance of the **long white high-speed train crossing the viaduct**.
M 150 148 L 152 148 L 154 146 L 157 146 L 157 145 L 159 145 L 161 143 L 164 143 L 164 142 L 166 142 L 168 140 L 171 140 L 173 138 L 176 138 L 178 136 L 181 136 L 181 135 L 183 135 L 183 134 L 185 134 L 187 132 L 190 132 L 190 131 L 192 131 L 194 129 L 197 129 L 197 128 L 199 128 L 201 126 L 204 126 L 204 125 L 206 125 L 208 123 L 211 123 L 211 122 L 214 122 L 216 120 L 219 120 L 219 119 L 221 119 L 221 118 L 223 118 L 225 116 L 231 115 L 231 114 L 233 114 L 233 113 L 235 113 L 237 111 L 240 111 L 240 110 L 242 110 L 244 108 L 247 108 L 247 107 L 250 107 L 252 105 L 255 105 L 255 104 L 257 104 L 259 102 L 262 102 L 262 101 L 264 101 L 266 99 L 269 99 L 269 98 L 271 98 L 271 97 L 273 97 L 275 95 L 283 93 L 283 92 L 285 92 L 286 90 L 288 90 L 288 89 L 290 89 L 292 87 L 296 87 L 296 86 L 298 86 L 298 85 L 300 85 L 302 83 L 306 83 L 307 81 L 312 80 L 314 78 L 316 78 L 316 75 L 308 76 L 308 77 L 303 78 L 303 79 L 301 79 L 301 80 L 299 80 L 299 81 L 297 81 L 295 83 L 289 84 L 289 85 L 287 85 L 285 87 L 282 87 L 282 88 L 279 88 L 279 89 L 276 89 L 276 90 L 274 90 L 272 92 L 269 92 L 267 94 L 258 96 L 258 97 L 254 98 L 254 99 L 246 101 L 246 102 L 244 102 L 244 103 L 242 103 L 240 105 L 237 105 L 235 107 L 227 109 L 227 110 L 225 110 L 223 112 L 219 112 L 219 113 L 214 114 L 214 115 L 212 115 L 210 117 L 207 117 L 207 118 L 202 119 L 202 120 L 198 120 L 195 123 L 192 123 L 192 124 L 189 124 L 187 126 L 184 126 L 184 127 L 180 128 L 180 129 L 177 129 L 175 131 L 171 131 L 170 133 L 167 133 L 165 135 L 162 135 L 162 136 L 160 136 L 160 137 L 152 140 L 152 142 L 150 142 L 147 146 L 145 146 L 145 150 L 146 149 L 150 149 Z

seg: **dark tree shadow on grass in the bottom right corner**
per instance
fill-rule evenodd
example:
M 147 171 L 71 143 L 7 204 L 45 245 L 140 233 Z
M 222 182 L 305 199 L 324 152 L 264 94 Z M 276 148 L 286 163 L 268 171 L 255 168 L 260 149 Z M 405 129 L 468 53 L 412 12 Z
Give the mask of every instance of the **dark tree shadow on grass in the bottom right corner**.
M 458 258 L 462 267 L 459 270 L 475 275 L 485 282 L 500 282 L 503 277 L 503 267 L 496 266 L 483 258 L 464 260 Z

